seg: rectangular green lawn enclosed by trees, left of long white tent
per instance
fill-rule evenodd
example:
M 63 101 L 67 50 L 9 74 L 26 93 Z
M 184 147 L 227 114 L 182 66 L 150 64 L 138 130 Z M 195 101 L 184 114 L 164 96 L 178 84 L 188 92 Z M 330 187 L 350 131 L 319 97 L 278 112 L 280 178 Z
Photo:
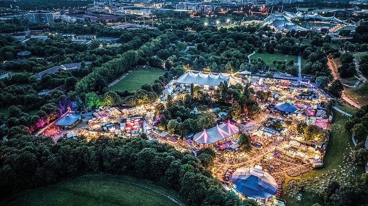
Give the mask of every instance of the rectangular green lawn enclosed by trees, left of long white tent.
M 144 84 L 153 84 L 153 82 L 158 79 L 159 76 L 163 75 L 165 72 L 158 69 L 141 69 L 134 70 L 132 73 L 128 74 L 125 78 L 121 79 L 118 83 L 110 87 L 110 90 L 116 91 L 137 91 Z

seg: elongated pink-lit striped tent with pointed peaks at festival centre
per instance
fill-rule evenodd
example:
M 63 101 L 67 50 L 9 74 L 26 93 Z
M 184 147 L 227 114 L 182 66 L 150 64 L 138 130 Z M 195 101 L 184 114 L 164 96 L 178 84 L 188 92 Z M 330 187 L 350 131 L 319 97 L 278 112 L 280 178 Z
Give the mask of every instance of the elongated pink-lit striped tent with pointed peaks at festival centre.
M 204 129 L 194 135 L 193 140 L 198 144 L 213 144 L 230 137 L 239 132 L 239 128 L 228 120 L 225 124 L 220 124 L 208 130 Z

